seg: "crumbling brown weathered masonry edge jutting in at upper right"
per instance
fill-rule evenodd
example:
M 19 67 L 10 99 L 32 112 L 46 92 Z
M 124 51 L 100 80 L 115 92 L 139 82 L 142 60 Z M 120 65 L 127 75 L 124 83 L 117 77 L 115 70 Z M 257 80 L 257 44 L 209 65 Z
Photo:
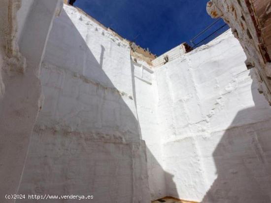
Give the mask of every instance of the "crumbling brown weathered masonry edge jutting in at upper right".
M 223 18 L 244 49 L 248 68 L 255 67 L 259 92 L 271 103 L 271 40 L 269 0 L 210 0 L 207 12 Z

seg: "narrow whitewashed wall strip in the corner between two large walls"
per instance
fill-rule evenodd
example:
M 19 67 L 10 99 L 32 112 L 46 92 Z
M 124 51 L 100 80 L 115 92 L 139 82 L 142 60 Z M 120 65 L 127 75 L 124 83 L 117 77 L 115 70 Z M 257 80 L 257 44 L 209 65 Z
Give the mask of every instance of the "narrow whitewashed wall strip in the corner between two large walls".
M 135 81 L 134 98 L 142 139 L 146 142 L 151 199 L 167 196 L 163 169 L 162 132 L 158 119 L 158 91 L 154 71 L 146 63 L 132 62 Z

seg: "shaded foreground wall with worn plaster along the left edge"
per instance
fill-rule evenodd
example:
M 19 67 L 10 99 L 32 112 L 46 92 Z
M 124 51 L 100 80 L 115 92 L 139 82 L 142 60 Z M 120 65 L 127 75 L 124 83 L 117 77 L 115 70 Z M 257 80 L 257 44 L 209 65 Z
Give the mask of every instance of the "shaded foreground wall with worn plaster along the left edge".
M 14 199 L 6 199 L 5 195 L 16 194 L 19 190 L 31 134 L 42 103 L 40 64 L 56 10 L 62 4 L 62 0 L 37 1 L 34 6 L 30 1 L 1 1 L 1 203 L 14 203 Z M 24 23 L 18 21 L 17 14 Z

